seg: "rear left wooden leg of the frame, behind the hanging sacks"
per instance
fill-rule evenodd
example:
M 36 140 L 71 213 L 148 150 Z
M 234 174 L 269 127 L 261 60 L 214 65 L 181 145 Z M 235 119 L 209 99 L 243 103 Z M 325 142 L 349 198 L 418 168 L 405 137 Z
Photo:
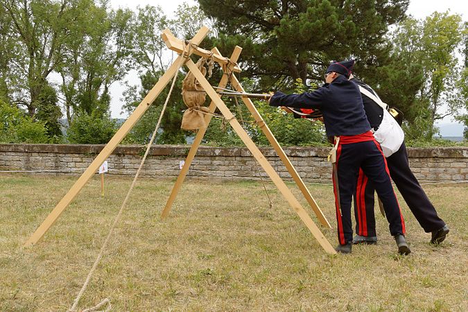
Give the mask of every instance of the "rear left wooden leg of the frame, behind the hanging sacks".
M 214 53 L 220 55 L 218 49 L 214 48 L 212 50 Z M 241 55 L 242 48 L 240 46 L 236 46 L 234 48 L 234 51 L 232 52 L 230 60 L 232 61 L 233 64 L 230 64 L 231 67 L 234 67 L 234 63 L 237 62 L 239 59 L 239 55 Z M 229 77 L 227 76 L 227 73 L 224 73 L 223 78 L 221 78 L 220 83 L 218 87 L 225 87 L 229 81 Z M 209 105 L 209 112 L 214 112 L 216 110 L 216 104 L 211 101 L 211 104 Z M 162 210 L 161 218 L 166 218 L 168 216 L 169 212 L 171 211 L 171 207 L 173 205 L 173 202 L 175 198 L 177 197 L 177 193 L 180 191 L 180 187 L 182 187 L 182 183 L 184 182 L 185 177 L 187 176 L 187 173 L 189 172 L 190 165 L 193 161 L 193 158 L 195 157 L 198 147 L 200 146 L 200 143 L 202 142 L 203 136 L 205 136 L 205 132 L 207 131 L 209 122 L 211 121 L 211 114 L 206 114 L 205 115 L 205 128 L 200 128 L 197 132 L 197 135 L 195 139 L 193 140 L 192 146 L 189 150 L 189 155 L 187 155 L 187 158 L 185 159 L 184 166 L 182 167 L 182 170 L 179 173 L 179 176 L 177 177 L 177 181 L 175 181 L 174 187 L 171 191 L 171 195 L 169 196 L 166 206 Z

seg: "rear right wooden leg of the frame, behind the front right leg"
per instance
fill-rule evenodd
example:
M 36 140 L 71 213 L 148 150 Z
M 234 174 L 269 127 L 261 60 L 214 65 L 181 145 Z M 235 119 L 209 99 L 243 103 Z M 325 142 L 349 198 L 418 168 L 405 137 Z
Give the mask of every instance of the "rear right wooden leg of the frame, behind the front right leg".
M 233 75 L 231 77 L 231 83 L 237 91 L 245 92 L 243 87 L 239 83 L 239 80 L 237 80 L 236 76 Z M 318 220 L 320 220 L 320 223 L 322 223 L 322 225 L 324 225 L 325 227 L 331 228 L 331 225 L 328 222 L 327 218 L 325 218 L 322 210 L 320 209 L 320 207 L 318 207 L 317 202 L 315 202 L 315 200 L 311 196 L 311 193 L 309 192 L 309 189 L 307 189 L 306 184 L 304 184 L 304 181 L 302 181 L 302 178 L 297 173 L 293 164 L 291 164 L 291 161 L 289 160 L 286 153 L 284 153 L 283 148 L 281 148 L 281 146 L 279 145 L 277 139 L 272 134 L 270 128 L 268 128 L 268 125 L 265 123 L 265 121 L 263 121 L 263 118 L 261 117 L 254 103 L 252 103 L 250 98 L 245 98 L 245 97 L 242 98 L 242 101 L 248 107 L 248 109 L 250 110 L 250 113 L 254 116 L 255 121 L 257 121 L 257 123 L 259 124 L 261 130 L 265 134 L 271 146 L 275 149 L 276 153 L 278 154 L 279 158 L 283 162 L 286 169 L 288 169 L 289 174 L 291 174 L 291 177 L 293 177 L 293 180 L 296 182 L 297 187 L 299 187 L 302 194 L 306 198 L 307 202 L 309 202 L 309 205 L 312 207 Z

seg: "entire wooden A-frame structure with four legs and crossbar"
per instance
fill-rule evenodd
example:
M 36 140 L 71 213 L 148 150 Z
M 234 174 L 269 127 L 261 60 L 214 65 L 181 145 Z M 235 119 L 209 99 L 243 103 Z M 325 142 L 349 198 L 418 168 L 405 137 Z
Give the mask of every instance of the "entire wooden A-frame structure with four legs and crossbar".
M 42 236 L 44 236 L 44 234 L 49 230 L 49 228 L 53 225 L 53 223 L 55 223 L 55 220 L 57 220 L 60 214 L 62 214 L 62 212 L 64 211 L 64 209 L 67 208 L 71 200 L 73 200 L 73 198 L 75 198 L 75 196 L 78 195 L 80 190 L 83 189 L 83 187 L 92 177 L 92 175 L 96 173 L 99 166 L 101 166 L 101 164 L 103 164 L 105 159 L 107 159 L 107 157 L 109 157 L 112 154 L 116 146 L 119 145 L 119 143 L 122 141 L 125 135 L 128 134 L 128 132 L 135 125 L 135 123 L 137 123 L 137 121 L 141 118 L 141 116 L 143 116 L 144 112 L 148 110 L 148 107 L 151 105 L 151 103 L 153 103 L 153 101 L 155 101 L 155 98 L 157 98 L 157 96 L 162 92 L 164 87 L 166 87 L 166 85 L 173 78 L 173 76 L 177 74 L 177 71 L 179 69 L 179 64 L 181 64 L 181 62 L 184 62 L 184 64 L 189 68 L 189 71 L 193 73 L 193 76 L 195 76 L 195 78 L 198 80 L 200 85 L 202 85 L 203 89 L 205 89 L 205 92 L 207 92 L 208 96 L 211 98 L 209 111 L 214 112 L 216 110 L 216 107 L 218 108 L 218 110 L 220 110 L 220 112 L 223 114 L 225 119 L 229 121 L 229 124 L 232 126 L 234 131 L 236 131 L 237 135 L 241 137 L 245 146 L 248 147 L 248 149 L 250 150 L 250 153 L 252 153 L 252 155 L 257 160 L 257 162 L 259 162 L 262 168 L 266 171 L 266 173 L 268 174 L 272 182 L 275 183 L 276 187 L 279 189 L 279 191 L 284 196 L 284 198 L 286 198 L 289 205 L 291 205 L 291 207 L 294 209 L 296 214 L 301 218 L 302 222 L 304 222 L 304 224 L 310 230 L 313 236 L 315 236 L 315 239 L 318 240 L 322 248 L 329 254 L 336 254 L 336 251 L 333 249 L 329 241 L 327 241 L 327 239 L 324 237 L 322 232 L 320 232 L 320 229 L 318 229 L 317 225 L 315 225 L 315 223 L 313 222 L 309 214 L 307 214 L 306 210 L 301 206 L 300 202 L 295 198 L 293 193 L 291 193 L 291 190 L 288 189 L 284 181 L 281 180 L 281 177 L 279 177 L 275 169 L 272 168 L 270 163 L 262 155 L 259 148 L 254 144 L 252 139 L 250 139 L 247 132 L 245 132 L 245 130 L 242 128 L 239 121 L 237 121 L 234 118 L 234 115 L 232 114 L 232 112 L 230 112 L 229 108 L 227 108 L 223 100 L 221 100 L 220 96 L 216 93 L 214 88 L 211 87 L 208 80 L 205 78 L 202 72 L 198 69 L 196 64 L 193 63 L 193 61 L 189 58 L 189 56 L 192 53 L 196 55 L 200 55 L 201 57 L 204 57 L 204 58 L 211 58 L 212 60 L 220 64 L 221 67 L 223 68 L 223 77 L 221 78 L 218 87 L 224 88 L 227 85 L 227 83 L 230 82 L 231 85 L 236 89 L 236 91 L 244 92 L 244 89 L 239 83 L 239 80 L 237 80 L 236 76 L 232 75 L 232 73 L 234 72 L 241 71 L 236 64 L 237 60 L 239 59 L 239 55 L 241 54 L 241 51 L 242 51 L 241 47 L 236 46 L 234 48 L 231 58 L 223 57 L 218 51 L 218 49 L 216 48 L 212 49 L 211 51 L 201 49 L 198 46 L 198 44 L 202 42 L 202 40 L 205 38 L 208 32 L 209 32 L 209 28 L 203 26 L 202 28 L 200 28 L 198 33 L 192 38 L 192 40 L 190 40 L 189 42 L 184 42 L 174 37 L 171 31 L 169 31 L 168 29 L 163 31 L 162 37 L 163 37 L 164 42 L 166 43 L 166 46 L 168 46 L 168 49 L 171 49 L 172 51 L 179 53 L 178 58 L 173 62 L 171 67 L 167 69 L 166 73 L 164 73 L 164 75 L 161 78 L 159 78 L 158 82 L 153 87 L 153 89 L 150 90 L 150 92 L 146 95 L 143 101 L 141 101 L 141 103 L 137 106 L 135 111 L 128 117 L 125 123 L 123 123 L 121 128 L 116 132 L 114 137 L 112 137 L 112 139 L 110 139 L 110 141 L 103 148 L 103 150 L 101 150 L 101 153 L 99 153 L 96 156 L 96 158 L 89 165 L 86 171 L 78 178 L 78 180 L 75 182 L 75 184 L 73 184 L 71 189 L 69 189 L 68 193 L 65 194 L 62 200 L 60 200 L 60 202 L 58 202 L 58 204 L 55 206 L 53 211 L 51 211 L 49 216 L 46 217 L 46 219 L 42 222 L 42 224 L 36 229 L 34 234 L 28 239 L 28 241 L 26 241 L 26 243 L 24 244 L 25 246 L 33 245 L 37 243 L 37 241 L 42 239 Z M 185 58 L 185 60 L 182 60 L 182 58 Z M 272 145 L 272 147 L 275 149 L 275 151 L 279 155 L 281 161 L 284 163 L 284 165 L 288 169 L 288 172 L 293 177 L 293 180 L 295 180 L 297 186 L 302 191 L 304 198 L 306 198 L 307 202 L 309 202 L 309 205 L 311 205 L 313 211 L 315 212 L 318 219 L 320 220 L 320 223 L 322 223 L 322 225 L 324 225 L 325 227 L 330 228 L 331 226 L 327 218 L 325 218 L 322 211 L 318 207 L 317 203 L 312 198 L 311 193 L 309 193 L 309 190 L 306 188 L 301 177 L 297 174 L 297 171 L 295 171 L 293 164 L 291 164 L 288 157 L 286 156 L 286 153 L 284 153 L 284 150 L 281 148 L 281 146 L 279 146 L 277 140 L 272 135 L 272 132 L 266 125 L 265 121 L 263 121 L 263 118 L 261 117 L 257 109 L 255 108 L 252 101 L 250 101 L 250 98 L 243 97 L 242 100 L 245 103 L 245 105 L 248 107 L 248 110 L 250 111 L 250 113 L 254 116 L 255 121 L 257 121 L 263 133 L 268 138 L 268 141 L 270 141 L 270 144 Z M 198 150 L 198 147 L 200 146 L 202 138 L 205 135 L 205 132 L 209 125 L 209 121 L 211 121 L 211 114 L 205 114 L 206 126 L 205 128 L 200 128 L 200 130 L 198 130 L 196 138 L 193 141 L 193 144 L 189 150 L 189 154 L 187 155 L 187 159 L 185 159 L 185 164 L 180 172 L 180 175 L 177 177 L 177 181 L 175 182 L 173 190 L 171 191 L 171 195 L 169 196 L 168 201 L 166 202 L 166 206 L 164 207 L 164 210 L 162 211 L 162 218 L 166 217 L 169 211 L 171 210 L 171 206 L 175 200 L 175 197 L 177 196 L 177 193 L 180 190 L 180 187 L 182 186 L 182 182 L 184 181 L 184 178 L 186 177 L 189 171 L 191 162 L 193 161 L 193 158 L 196 155 L 196 152 Z

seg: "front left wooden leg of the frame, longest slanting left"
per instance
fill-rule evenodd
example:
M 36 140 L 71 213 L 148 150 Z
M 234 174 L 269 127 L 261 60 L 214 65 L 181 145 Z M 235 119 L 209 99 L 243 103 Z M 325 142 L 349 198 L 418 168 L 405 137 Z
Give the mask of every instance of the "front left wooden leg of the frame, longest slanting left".
M 202 40 L 207 35 L 208 31 L 208 28 L 201 28 L 200 31 L 198 31 L 198 33 L 195 35 L 195 37 L 193 37 L 192 42 L 195 44 L 200 44 L 200 42 L 202 42 Z M 153 101 L 155 101 L 157 96 L 162 92 L 164 87 L 166 87 L 168 82 L 177 73 L 180 62 L 182 62 L 182 58 L 182 56 L 179 56 L 175 60 L 175 62 L 173 62 L 171 67 L 158 80 L 156 85 L 145 96 L 145 98 L 143 99 L 143 101 L 141 101 L 141 103 L 138 105 L 135 111 L 132 112 L 132 114 L 128 117 L 125 123 L 123 123 L 121 128 L 114 135 L 114 137 L 112 137 L 109 143 L 107 143 L 103 150 L 101 150 L 101 153 L 99 153 L 96 156 L 96 158 L 89 165 L 86 171 L 78 178 L 75 184 L 73 184 L 68 193 L 65 194 L 62 200 L 60 200 L 57 206 L 55 206 L 55 208 L 51 211 L 49 216 L 46 217 L 42 224 L 36 229 L 34 234 L 28 239 L 28 241 L 26 241 L 26 243 L 24 244 L 25 246 L 33 245 L 37 243 L 37 241 L 42 239 L 42 236 L 44 236 L 44 234 L 49 230 L 53 223 L 55 223 L 55 220 L 57 220 L 60 214 L 62 214 L 62 212 L 64 211 L 64 209 L 67 208 L 71 200 L 73 200 L 73 198 L 75 198 L 76 195 L 78 195 L 78 193 L 81 191 L 81 189 L 83 189 L 83 187 L 89 181 L 89 179 L 94 175 L 94 173 L 96 173 L 99 166 L 101 166 L 105 159 L 107 159 L 107 157 L 109 157 L 112 154 L 116 146 L 119 145 L 119 143 L 122 141 L 125 135 L 127 135 L 127 133 L 133 128 L 135 123 L 137 123 L 141 116 L 143 116 L 144 112 L 148 110 L 148 107 L 150 107 Z

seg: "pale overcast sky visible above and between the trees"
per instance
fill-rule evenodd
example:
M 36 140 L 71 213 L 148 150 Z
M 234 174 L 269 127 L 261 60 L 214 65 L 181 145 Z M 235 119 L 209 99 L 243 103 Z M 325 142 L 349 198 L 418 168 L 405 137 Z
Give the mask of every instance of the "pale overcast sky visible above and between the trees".
M 169 17 L 173 17 L 173 12 L 177 10 L 177 6 L 181 3 L 187 2 L 190 5 L 195 5 L 197 2 L 194 0 L 110 0 L 112 8 L 130 8 L 135 10 L 137 6 L 161 6 L 164 13 Z M 410 6 L 407 14 L 413 15 L 417 19 L 431 15 L 433 12 L 445 12 L 450 10 L 451 13 L 458 13 L 462 15 L 464 21 L 468 21 L 468 1 L 467 0 L 410 0 Z M 128 76 L 131 84 L 137 84 L 138 79 L 135 73 L 130 73 Z M 114 83 L 111 86 L 112 96 L 112 116 L 126 118 L 125 114 L 121 114 L 121 101 L 123 87 L 119 83 Z

